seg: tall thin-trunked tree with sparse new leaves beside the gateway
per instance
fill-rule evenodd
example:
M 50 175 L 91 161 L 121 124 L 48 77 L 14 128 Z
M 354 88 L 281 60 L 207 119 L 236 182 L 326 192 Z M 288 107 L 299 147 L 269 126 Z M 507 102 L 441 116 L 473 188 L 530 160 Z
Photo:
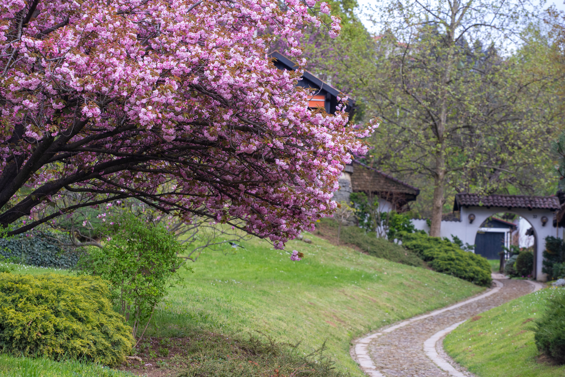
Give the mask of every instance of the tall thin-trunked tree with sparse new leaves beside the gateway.
M 551 66 L 539 61 L 541 43 L 508 57 L 494 42 L 450 34 L 436 23 L 422 25 L 407 42 L 385 34 L 377 42 L 377 74 L 361 80 L 367 102 L 384 119 L 372 138 L 373 163 L 432 181 L 434 236 L 446 189 L 532 192 L 547 183 L 548 170 L 540 167 L 547 166 L 545 145 L 558 128 L 558 97 Z

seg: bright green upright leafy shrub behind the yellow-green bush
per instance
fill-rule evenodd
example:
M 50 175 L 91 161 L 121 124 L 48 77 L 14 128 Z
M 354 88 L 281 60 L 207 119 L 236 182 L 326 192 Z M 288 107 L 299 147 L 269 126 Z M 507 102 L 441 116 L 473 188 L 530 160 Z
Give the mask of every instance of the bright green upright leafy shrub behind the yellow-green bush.
M 163 226 L 128 213 L 107 218 L 98 231 L 110 240 L 102 249 L 90 248 L 80 259 L 79 275 L 98 275 L 110 282 L 112 301 L 132 323 L 136 336 L 167 288 L 182 281 L 176 271 L 185 263 L 177 254 L 185 247 Z

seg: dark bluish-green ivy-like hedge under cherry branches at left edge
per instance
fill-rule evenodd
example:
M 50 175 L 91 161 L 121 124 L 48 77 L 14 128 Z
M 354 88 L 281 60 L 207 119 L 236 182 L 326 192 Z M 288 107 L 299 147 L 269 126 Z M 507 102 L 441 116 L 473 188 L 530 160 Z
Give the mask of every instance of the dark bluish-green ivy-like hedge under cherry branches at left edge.
M 70 242 L 66 233 L 30 231 L 7 239 L 0 239 L 0 255 L 25 265 L 72 268 L 79 261 L 81 248 L 71 249 L 56 244 Z

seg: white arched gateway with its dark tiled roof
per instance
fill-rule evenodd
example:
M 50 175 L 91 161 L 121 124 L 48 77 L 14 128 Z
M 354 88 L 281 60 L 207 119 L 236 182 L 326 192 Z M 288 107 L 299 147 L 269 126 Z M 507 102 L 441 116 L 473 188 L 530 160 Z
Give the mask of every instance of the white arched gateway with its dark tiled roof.
M 459 213 L 459 219 L 441 222 L 441 237 L 451 240 L 451 235 L 459 237 L 463 242 L 475 244 L 475 237 L 481 224 L 490 216 L 510 212 L 523 217 L 532 225 L 536 237 L 534 245 L 534 278 L 546 280 L 546 274 L 541 272 L 544 259 L 545 237 L 558 236 L 553 225 L 553 217 L 561 209 L 557 196 L 525 196 L 525 195 L 489 195 L 461 193 L 455 195 L 454 213 Z M 412 220 L 418 229 L 429 230 L 425 220 Z

